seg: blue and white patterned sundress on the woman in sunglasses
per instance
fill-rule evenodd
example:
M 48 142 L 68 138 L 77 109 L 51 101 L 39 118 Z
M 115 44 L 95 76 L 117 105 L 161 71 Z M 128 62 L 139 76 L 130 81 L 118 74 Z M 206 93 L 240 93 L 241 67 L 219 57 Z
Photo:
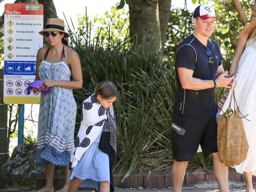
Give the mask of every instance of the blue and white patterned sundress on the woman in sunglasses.
M 70 81 L 71 71 L 65 63 L 67 55 L 61 61 L 50 62 L 46 60 L 47 52 L 39 66 L 39 78 Z M 48 94 L 41 93 L 38 119 L 36 163 L 69 166 L 76 121 L 72 89 L 54 86 Z

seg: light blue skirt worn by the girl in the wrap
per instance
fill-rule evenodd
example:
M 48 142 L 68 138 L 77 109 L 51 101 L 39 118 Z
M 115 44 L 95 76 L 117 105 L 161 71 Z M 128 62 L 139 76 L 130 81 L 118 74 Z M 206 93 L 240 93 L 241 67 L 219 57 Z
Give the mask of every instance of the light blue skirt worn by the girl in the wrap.
M 69 179 L 84 180 L 80 187 L 100 188 L 101 181 L 110 183 L 109 158 L 98 149 L 99 143 L 93 142 L 83 154 L 78 164 L 70 171 Z

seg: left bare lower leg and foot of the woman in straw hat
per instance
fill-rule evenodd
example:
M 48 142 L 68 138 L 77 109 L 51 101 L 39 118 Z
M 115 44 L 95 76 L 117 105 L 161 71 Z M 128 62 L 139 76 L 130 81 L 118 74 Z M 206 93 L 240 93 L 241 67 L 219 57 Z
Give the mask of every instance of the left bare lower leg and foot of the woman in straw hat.
M 54 188 L 53 188 L 54 167 L 55 167 L 55 164 L 53 164 L 51 162 L 45 163 L 46 184 L 43 188 L 37 190 L 36 192 L 54 192 Z

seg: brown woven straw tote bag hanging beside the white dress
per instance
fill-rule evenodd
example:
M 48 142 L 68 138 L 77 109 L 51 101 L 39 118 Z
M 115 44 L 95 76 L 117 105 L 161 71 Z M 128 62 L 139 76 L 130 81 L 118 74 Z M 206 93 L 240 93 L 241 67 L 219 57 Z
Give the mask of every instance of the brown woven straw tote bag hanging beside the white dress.
M 232 81 L 228 109 L 218 117 L 217 145 L 220 161 L 226 166 L 235 166 L 243 162 L 249 148 L 242 122 L 242 118 L 247 119 L 248 114 L 243 116 L 239 111 L 233 84 Z M 232 99 L 234 111 L 230 107 Z

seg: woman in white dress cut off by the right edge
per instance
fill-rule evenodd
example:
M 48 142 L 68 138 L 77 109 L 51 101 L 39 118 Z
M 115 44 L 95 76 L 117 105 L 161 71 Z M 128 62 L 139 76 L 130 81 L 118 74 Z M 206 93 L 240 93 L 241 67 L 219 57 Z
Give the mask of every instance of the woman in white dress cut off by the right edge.
M 256 2 L 252 16 L 256 16 Z M 239 72 L 236 76 L 235 89 L 237 104 L 242 114 L 249 114 L 250 122 L 245 118 L 242 119 L 249 144 L 247 158 L 234 168 L 236 172 L 244 174 L 246 192 L 253 192 L 252 175 L 256 176 L 256 18 L 245 26 L 239 35 L 234 58 L 230 65 L 230 74 L 237 71 Z M 223 111 L 228 108 L 229 101 L 230 94 L 223 105 Z

